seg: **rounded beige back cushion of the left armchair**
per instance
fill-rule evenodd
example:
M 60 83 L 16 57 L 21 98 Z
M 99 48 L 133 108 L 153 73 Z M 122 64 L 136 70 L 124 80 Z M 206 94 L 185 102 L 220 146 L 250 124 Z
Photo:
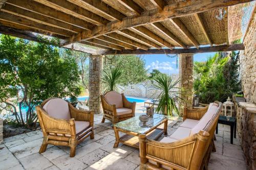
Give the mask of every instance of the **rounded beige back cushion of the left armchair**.
M 69 104 L 63 99 L 51 99 L 42 107 L 42 109 L 44 109 L 48 115 L 53 118 L 66 120 L 71 118 L 69 112 Z

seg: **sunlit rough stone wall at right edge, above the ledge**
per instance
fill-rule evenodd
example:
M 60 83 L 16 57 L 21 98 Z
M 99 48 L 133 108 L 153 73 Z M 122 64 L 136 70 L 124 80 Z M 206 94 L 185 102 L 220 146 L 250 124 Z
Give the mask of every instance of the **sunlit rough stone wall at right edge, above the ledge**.
M 250 22 L 244 38 L 245 50 L 240 54 L 240 76 L 247 102 L 256 103 L 256 15 Z

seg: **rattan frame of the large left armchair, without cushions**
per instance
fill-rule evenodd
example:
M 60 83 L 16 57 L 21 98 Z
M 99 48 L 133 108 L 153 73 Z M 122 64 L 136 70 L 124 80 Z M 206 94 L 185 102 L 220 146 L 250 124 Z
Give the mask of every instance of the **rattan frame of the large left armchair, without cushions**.
M 51 99 L 54 98 L 47 99 L 42 102 L 41 105 L 36 106 L 37 116 L 42 134 L 44 135 L 39 153 L 45 152 L 48 144 L 53 144 L 70 147 L 70 157 L 74 157 L 78 143 L 89 136 L 91 139 L 94 138 L 94 111 L 78 110 L 69 103 L 71 119 L 65 120 L 53 118 L 42 109 L 42 107 Z M 90 123 L 90 126 L 79 134 L 76 134 L 75 120 L 87 121 Z

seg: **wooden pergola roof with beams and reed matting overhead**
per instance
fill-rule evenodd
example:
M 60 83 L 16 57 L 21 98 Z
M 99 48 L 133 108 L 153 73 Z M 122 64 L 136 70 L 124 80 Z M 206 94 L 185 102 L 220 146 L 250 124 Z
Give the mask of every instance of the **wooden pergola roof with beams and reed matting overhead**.
M 0 33 L 33 41 L 38 41 L 34 33 L 49 35 L 61 39 L 59 46 L 91 54 L 243 50 L 243 44 L 232 44 L 236 39 L 229 32 L 240 26 L 230 28 L 229 15 L 247 2 L 0 0 Z M 222 20 L 216 18 L 220 8 L 226 11 Z

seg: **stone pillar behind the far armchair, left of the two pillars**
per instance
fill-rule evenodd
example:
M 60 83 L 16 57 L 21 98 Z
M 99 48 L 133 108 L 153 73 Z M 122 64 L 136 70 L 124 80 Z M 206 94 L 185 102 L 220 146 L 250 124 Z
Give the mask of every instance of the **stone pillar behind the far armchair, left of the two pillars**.
M 100 113 L 102 55 L 91 55 L 89 60 L 89 108 Z

